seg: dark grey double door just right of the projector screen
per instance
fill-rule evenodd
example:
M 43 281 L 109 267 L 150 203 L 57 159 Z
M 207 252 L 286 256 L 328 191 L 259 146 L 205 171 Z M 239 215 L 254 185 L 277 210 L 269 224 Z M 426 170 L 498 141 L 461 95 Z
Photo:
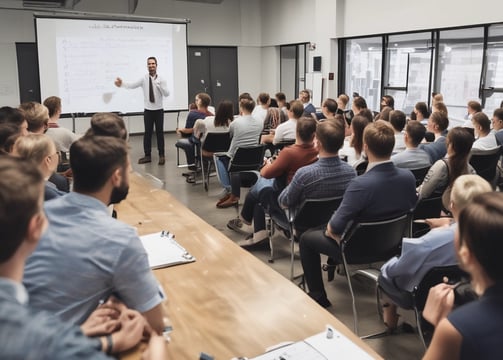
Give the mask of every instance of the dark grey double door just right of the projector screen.
M 238 109 L 238 61 L 236 47 L 189 46 L 189 101 L 198 92 L 211 96 L 212 105 L 222 100 L 234 102 Z

